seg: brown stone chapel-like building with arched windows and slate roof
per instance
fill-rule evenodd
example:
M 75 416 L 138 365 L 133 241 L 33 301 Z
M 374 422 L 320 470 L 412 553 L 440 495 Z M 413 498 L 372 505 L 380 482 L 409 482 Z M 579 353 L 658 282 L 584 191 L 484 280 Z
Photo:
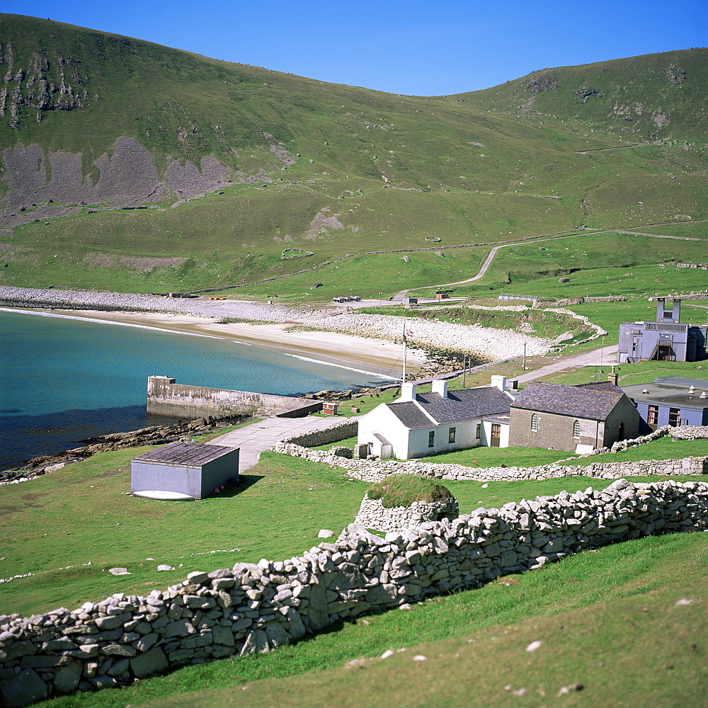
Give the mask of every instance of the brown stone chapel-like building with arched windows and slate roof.
M 579 386 L 531 382 L 510 406 L 510 447 L 590 452 L 636 438 L 632 401 L 610 381 Z

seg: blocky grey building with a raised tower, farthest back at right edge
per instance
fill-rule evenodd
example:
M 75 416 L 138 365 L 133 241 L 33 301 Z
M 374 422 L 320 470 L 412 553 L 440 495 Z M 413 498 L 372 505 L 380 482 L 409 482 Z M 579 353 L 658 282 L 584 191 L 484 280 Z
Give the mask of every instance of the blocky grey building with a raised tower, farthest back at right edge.
M 666 298 L 656 298 L 656 321 L 619 325 L 618 362 L 698 361 L 706 358 L 706 326 L 681 324 L 681 300 L 667 309 Z

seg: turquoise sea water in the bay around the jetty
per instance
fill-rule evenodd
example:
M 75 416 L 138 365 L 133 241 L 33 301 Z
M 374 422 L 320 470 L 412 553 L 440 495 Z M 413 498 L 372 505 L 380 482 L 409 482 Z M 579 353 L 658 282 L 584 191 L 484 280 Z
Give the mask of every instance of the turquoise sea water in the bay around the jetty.
M 380 383 L 343 367 L 223 339 L 0 312 L 0 469 L 109 432 L 157 425 L 147 377 L 303 394 Z

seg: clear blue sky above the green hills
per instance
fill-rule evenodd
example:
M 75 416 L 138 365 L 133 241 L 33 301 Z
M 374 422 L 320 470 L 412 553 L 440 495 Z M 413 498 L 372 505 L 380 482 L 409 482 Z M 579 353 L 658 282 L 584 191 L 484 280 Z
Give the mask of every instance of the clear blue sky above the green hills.
M 416 95 L 486 89 L 535 69 L 708 44 L 708 0 L 3 0 L 0 7 L 230 62 Z

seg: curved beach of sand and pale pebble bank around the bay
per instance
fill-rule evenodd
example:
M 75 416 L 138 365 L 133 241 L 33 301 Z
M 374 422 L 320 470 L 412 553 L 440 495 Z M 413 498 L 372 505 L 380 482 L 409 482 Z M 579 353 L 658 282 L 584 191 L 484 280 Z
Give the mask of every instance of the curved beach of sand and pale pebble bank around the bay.
M 554 346 L 550 339 L 512 329 L 363 314 L 350 309 L 342 311 L 328 304 L 323 304 L 321 309 L 304 310 L 236 299 L 167 298 L 4 286 L 0 287 L 0 307 L 216 336 L 393 377 L 402 374 L 400 342 L 404 329 L 409 340 L 407 368 L 414 375 L 419 375 L 423 369 L 432 372 L 438 368 L 426 350 L 454 350 L 472 354 L 480 361 L 494 361 L 524 353 L 544 354 Z M 237 321 L 219 324 L 224 319 Z M 302 327 L 297 328 L 297 325 Z

